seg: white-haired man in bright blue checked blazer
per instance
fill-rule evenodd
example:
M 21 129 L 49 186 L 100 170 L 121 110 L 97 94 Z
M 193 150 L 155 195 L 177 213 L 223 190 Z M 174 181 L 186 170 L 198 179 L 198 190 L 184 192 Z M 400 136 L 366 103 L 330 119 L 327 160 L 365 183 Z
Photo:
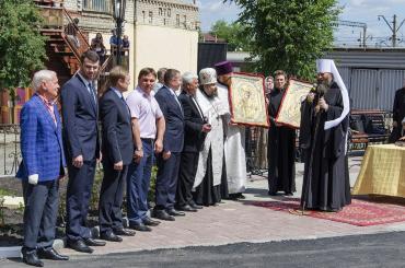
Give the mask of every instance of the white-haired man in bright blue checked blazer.
M 55 101 L 58 78 L 54 71 L 34 74 L 34 96 L 21 110 L 21 153 L 23 160 L 16 173 L 24 195 L 23 261 L 42 267 L 39 258 L 67 260 L 54 248 L 58 214 L 59 178 L 65 176 L 66 161 L 61 123 Z M 38 258 L 39 257 L 39 258 Z

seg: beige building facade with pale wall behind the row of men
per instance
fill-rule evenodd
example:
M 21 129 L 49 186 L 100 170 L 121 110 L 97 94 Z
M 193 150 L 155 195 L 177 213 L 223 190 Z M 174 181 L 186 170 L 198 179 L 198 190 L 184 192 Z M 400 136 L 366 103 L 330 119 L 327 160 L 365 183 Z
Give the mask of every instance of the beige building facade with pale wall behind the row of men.
M 89 43 L 96 33 L 109 48 L 113 0 L 65 0 L 79 27 L 89 33 Z M 128 35 L 131 85 L 143 67 L 175 68 L 197 71 L 199 16 L 195 1 L 127 0 L 124 34 Z

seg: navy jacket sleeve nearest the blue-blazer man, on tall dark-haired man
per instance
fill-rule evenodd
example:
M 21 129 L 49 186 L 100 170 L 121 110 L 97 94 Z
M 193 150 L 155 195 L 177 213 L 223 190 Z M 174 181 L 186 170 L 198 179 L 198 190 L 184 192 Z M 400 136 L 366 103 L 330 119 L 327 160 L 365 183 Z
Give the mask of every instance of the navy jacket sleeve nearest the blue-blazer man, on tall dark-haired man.
M 67 133 L 66 139 L 69 140 L 68 150 L 71 156 L 74 159 L 82 153 L 82 148 L 79 142 L 77 124 L 76 124 L 76 108 L 78 105 L 78 92 L 71 83 L 63 85 L 61 93 L 62 101 L 62 117 L 63 117 L 63 130 Z

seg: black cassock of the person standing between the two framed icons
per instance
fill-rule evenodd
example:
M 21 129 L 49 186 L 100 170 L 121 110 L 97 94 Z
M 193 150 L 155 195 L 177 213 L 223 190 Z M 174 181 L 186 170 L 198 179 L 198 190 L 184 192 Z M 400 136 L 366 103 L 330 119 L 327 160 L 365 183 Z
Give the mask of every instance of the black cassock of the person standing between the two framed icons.
M 285 90 L 275 89 L 269 94 L 268 114 L 268 193 L 279 190 L 290 194 L 296 191 L 296 130 L 290 127 L 277 127 L 275 118 L 280 107 Z

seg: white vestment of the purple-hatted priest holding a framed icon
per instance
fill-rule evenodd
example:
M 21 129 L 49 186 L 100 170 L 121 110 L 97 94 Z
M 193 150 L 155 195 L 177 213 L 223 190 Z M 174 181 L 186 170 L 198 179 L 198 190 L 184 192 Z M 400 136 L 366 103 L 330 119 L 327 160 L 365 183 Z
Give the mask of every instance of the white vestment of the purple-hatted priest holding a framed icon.
M 229 91 L 225 85 L 217 83 L 218 97 L 225 109 L 223 132 L 225 135 L 224 154 L 227 166 L 227 182 L 229 194 L 245 191 L 246 185 L 246 155 L 245 127 L 229 125 L 231 112 L 229 107 Z

